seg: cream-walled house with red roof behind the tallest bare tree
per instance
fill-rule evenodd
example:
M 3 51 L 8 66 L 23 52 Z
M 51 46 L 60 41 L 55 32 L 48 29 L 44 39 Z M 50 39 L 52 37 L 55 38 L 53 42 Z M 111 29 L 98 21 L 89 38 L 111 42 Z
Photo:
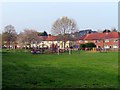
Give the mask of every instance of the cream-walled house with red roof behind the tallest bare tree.
M 48 47 L 50 48 L 52 44 L 59 46 L 60 49 L 64 48 L 64 39 L 65 39 L 65 48 L 70 47 L 75 44 L 75 39 L 66 37 L 63 39 L 61 36 L 39 36 L 41 42 L 38 44 L 39 47 Z

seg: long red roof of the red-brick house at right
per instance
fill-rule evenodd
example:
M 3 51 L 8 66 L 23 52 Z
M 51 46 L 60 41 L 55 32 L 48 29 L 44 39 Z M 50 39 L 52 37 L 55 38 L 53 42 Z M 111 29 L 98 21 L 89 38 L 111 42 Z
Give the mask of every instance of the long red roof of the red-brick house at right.
M 81 37 L 80 39 L 84 40 L 99 40 L 99 39 L 110 39 L 118 38 L 118 32 L 109 32 L 109 33 L 93 33 L 87 34 L 86 36 Z

